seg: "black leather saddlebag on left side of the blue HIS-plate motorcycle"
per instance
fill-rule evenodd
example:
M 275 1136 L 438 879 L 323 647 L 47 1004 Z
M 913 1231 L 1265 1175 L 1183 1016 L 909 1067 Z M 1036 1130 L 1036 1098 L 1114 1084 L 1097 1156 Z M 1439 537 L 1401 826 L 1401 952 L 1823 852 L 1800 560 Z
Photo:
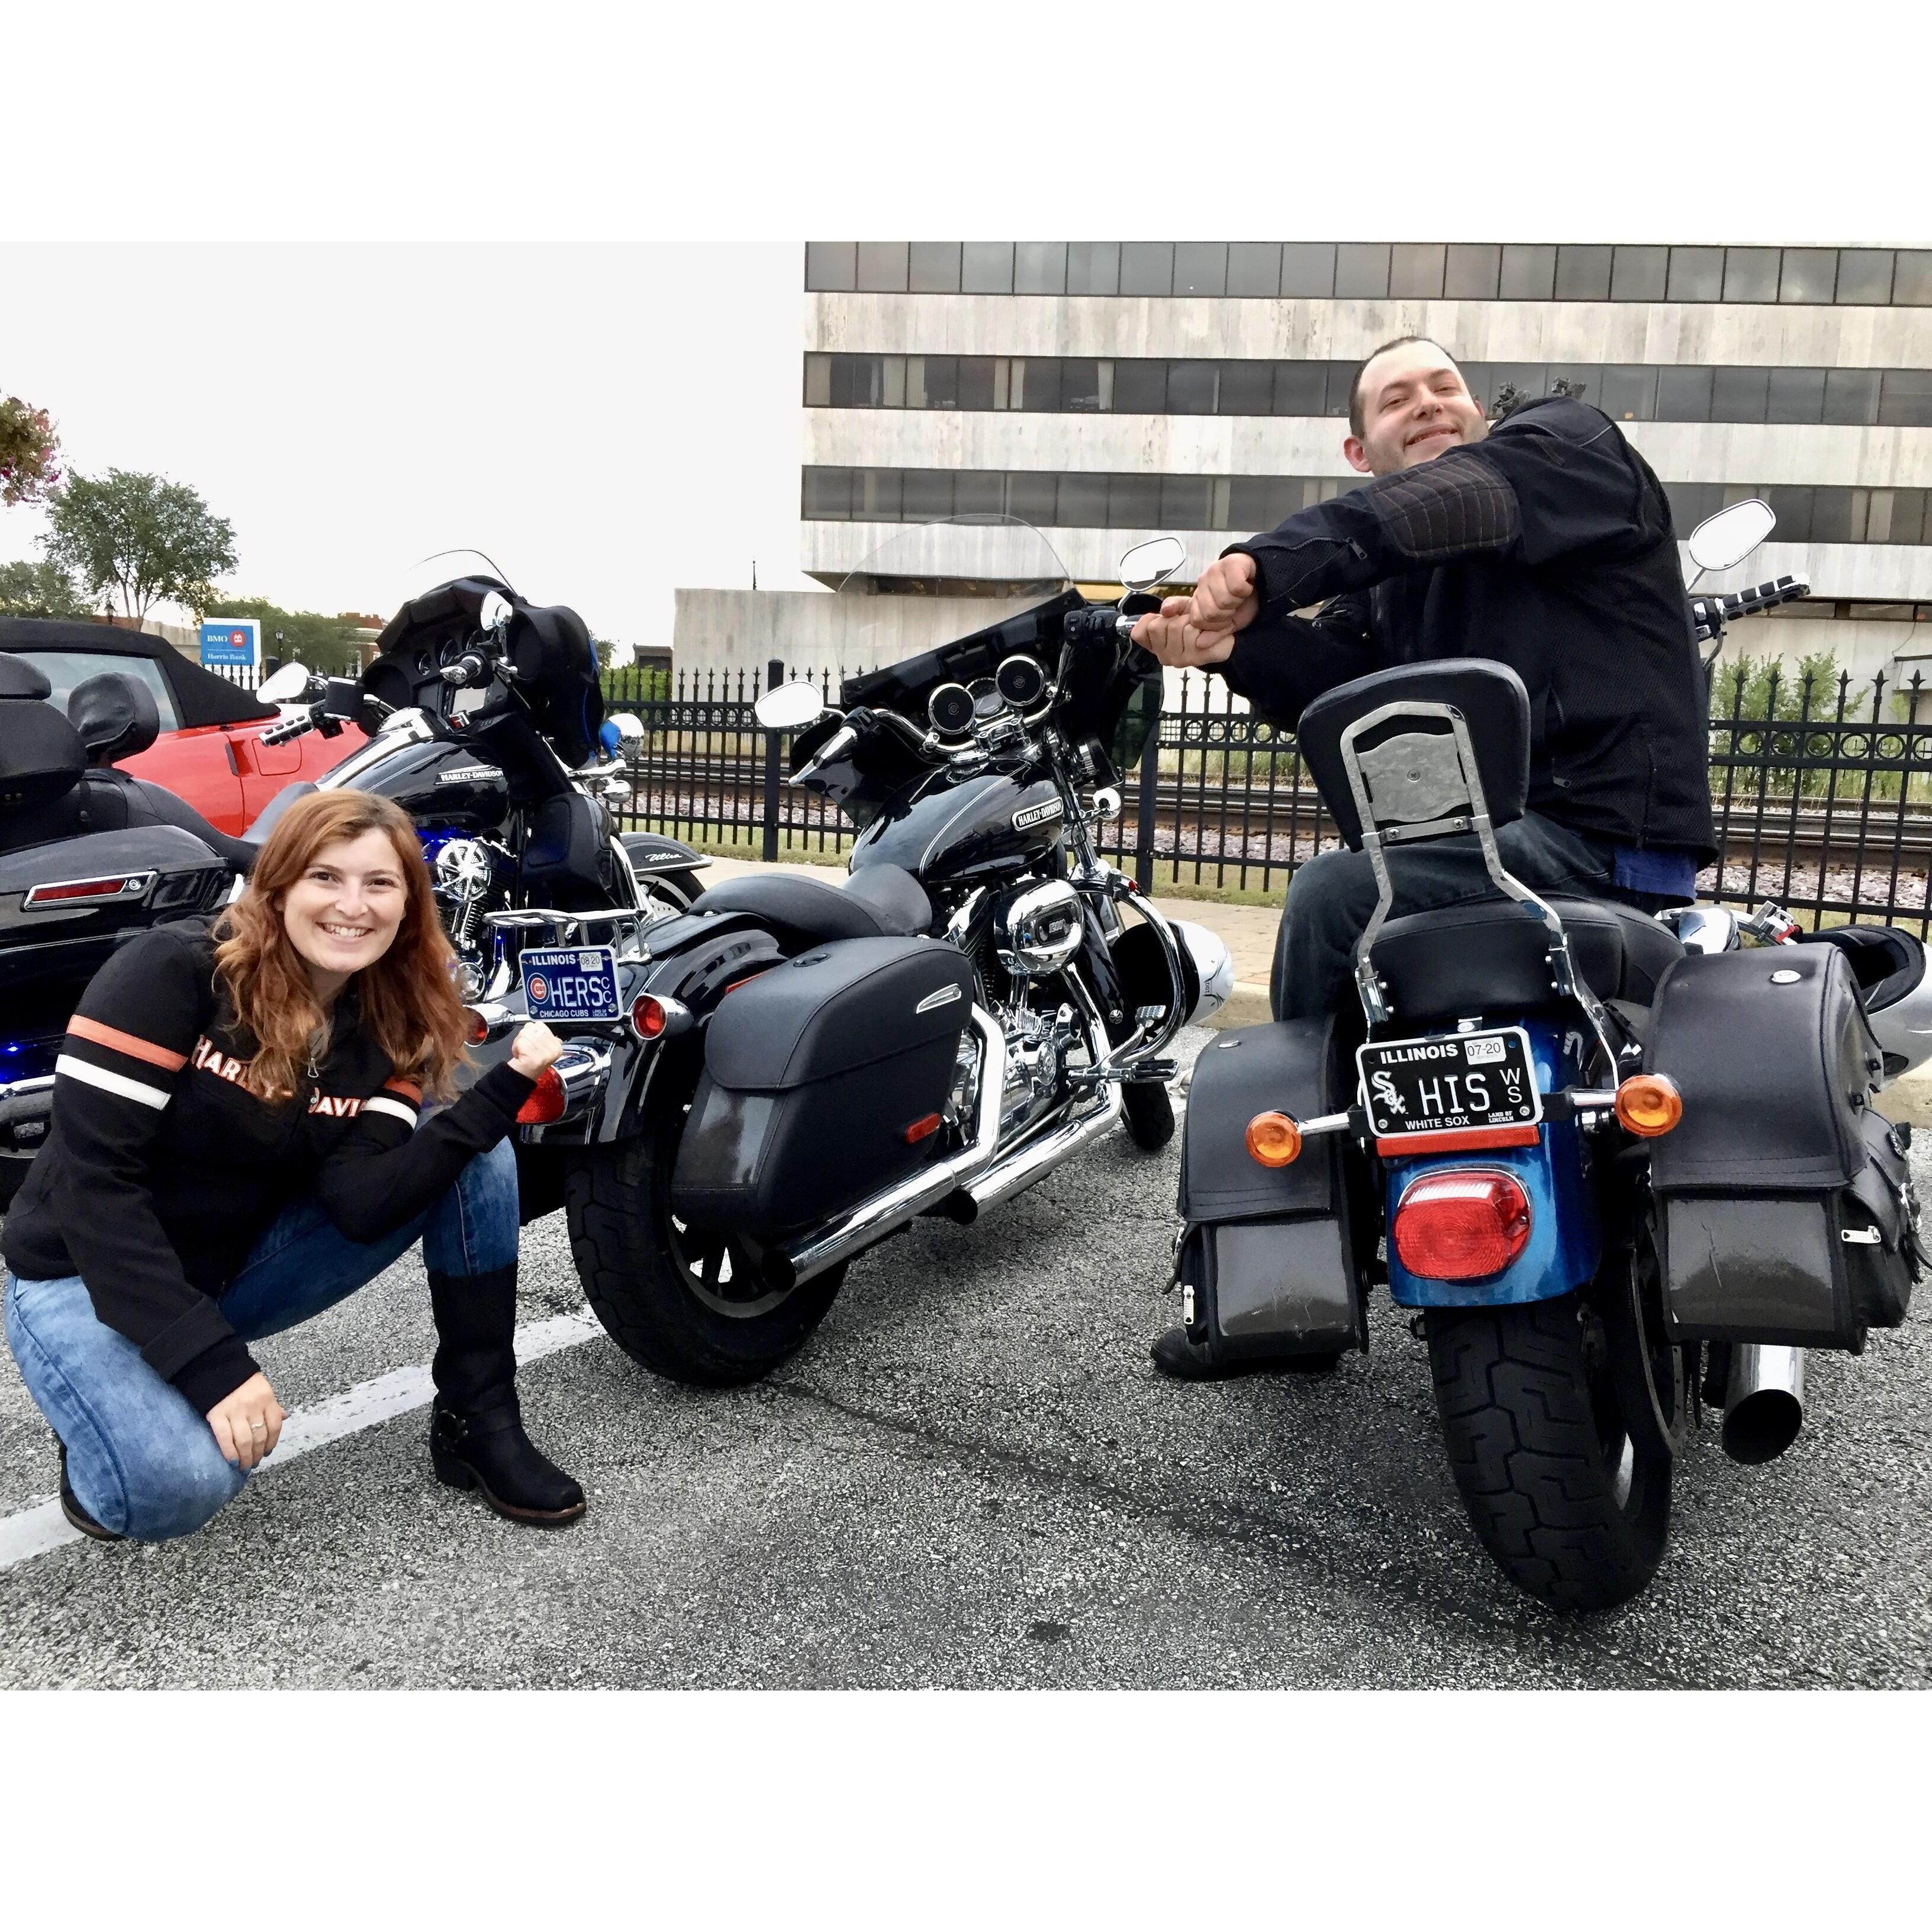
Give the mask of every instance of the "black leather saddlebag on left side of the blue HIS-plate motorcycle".
M 1289 1167 L 1248 1153 L 1258 1113 L 1337 1113 L 1350 1088 L 1333 1018 L 1229 1028 L 1194 1063 L 1179 1281 L 1188 1335 L 1217 1360 L 1368 1347 L 1358 1244 L 1374 1236 L 1350 1200 L 1347 1136 L 1310 1140 Z

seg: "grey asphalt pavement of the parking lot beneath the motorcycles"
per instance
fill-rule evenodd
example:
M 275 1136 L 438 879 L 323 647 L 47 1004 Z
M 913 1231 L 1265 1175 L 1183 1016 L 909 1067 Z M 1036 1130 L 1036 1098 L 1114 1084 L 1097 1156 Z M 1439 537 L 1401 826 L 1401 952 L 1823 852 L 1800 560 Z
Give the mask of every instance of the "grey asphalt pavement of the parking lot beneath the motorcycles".
M 1387 1302 L 1333 1376 L 1155 1378 L 1177 1150 L 1115 1134 L 978 1227 L 918 1225 L 759 1387 L 659 1381 L 601 1333 L 531 1364 L 531 1430 L 591 1499 L 570 1530 L 440 1488 L 413 1408 L 265 1472 L 199 1536 L 14 1561 L 0 1685 L 1928 1681 L 1932 1289 L 1862 1358 L 1810 1358 L 1779 1463 L 1741 1468 L 1706 1428 L 1652 1588 L 1563 1619 L 1470 1536 Z M 582 1308 L 560 1215 L 526 1231 L 524 1275 L 526 1321 Z M 315 1408 L 431 1347 L 406 1260 L 259 1352 Z M 52 1480 L 0 1356 L 0 1519 Z

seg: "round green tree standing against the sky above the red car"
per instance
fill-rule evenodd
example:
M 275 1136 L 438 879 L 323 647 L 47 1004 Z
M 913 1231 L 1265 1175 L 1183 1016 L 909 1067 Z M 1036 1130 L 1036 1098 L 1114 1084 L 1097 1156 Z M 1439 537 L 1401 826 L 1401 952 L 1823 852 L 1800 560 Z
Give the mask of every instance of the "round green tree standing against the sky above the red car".
M 236 568 L 234 524 L 214 516 L 199 491 L 129 469 L 77 475 L 56 491 L 43 541 L 48 560 L 85 591 L 120 591 L 133 618 L 162 597 L 199 614 L 213 599 L 211 582 Z

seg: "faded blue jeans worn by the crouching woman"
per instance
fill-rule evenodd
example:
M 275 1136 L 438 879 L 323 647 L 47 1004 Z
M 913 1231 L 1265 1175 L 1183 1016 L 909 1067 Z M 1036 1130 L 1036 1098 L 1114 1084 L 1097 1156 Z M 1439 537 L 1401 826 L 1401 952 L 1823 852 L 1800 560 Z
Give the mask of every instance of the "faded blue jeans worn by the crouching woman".
M 243 1341 L 276 1335 L 334 1306 L 421 1238 L 435 1273 L 481 1275 L 516 1262 L 516 1153 L 479 1153 L 425 1213 L 383 1240 L 340 1235 L 315 1196 L 292 1202 L 220 1294 Z M 164 1542 L 199 1530 L 247 1474 L 141 1350 L 95 1316 L 79 1275 L 6 1277 L 6 1339 L 21 1381 L 68 1449 L 73 1499 L 106 1530 Z

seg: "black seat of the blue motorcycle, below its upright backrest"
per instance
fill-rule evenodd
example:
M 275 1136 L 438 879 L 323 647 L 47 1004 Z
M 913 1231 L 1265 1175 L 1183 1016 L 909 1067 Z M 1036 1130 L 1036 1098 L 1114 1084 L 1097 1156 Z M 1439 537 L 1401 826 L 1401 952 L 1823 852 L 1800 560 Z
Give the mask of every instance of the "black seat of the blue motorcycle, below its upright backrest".
M 1677 935 L 1633 906 L 1555 893 L 1548 904 L 1598 999 L 1648 1007 L 1665 970 L 1683 958 Z M 1551 1003 L 1546 939 L 1544 922 L 1515 900 L 1480 898 L 1389 920 L 1374 962 L 1397 1018 L 1492 1014 Z

